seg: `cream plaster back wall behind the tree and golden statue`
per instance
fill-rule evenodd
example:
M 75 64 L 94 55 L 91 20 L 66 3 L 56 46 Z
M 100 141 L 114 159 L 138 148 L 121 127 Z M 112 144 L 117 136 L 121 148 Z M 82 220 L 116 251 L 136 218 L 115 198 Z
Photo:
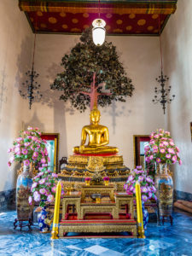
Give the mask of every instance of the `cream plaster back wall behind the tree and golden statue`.
M 158 105 L 152 103 L 155 78 L 160 74 L 158 38 L 107 37 L 117 46 L 119 60 L 132 79 L 135 91 L 127 102 L 115 102 L 108 108 L 100 108 L 101 124 L 109 128 L 110 145 L 119 148 L 125 165 L 134 165 L 133 135 L 146 135 L 165 127 L 165 116 Z M 84 113 L 59 101 L 60 93 L 49 91 L 49 84 L 61 72 L 61 58 L 79 42 L 79 36 L 37 35 L 36 69 L 38 82 L 43 90 L 43 103 L 34 103 L 32 111 L 25 108 L 25 125 L 36 125 L 44 132 L 59 132 L 60 156 L 73 154 L 73 146 L 79 145 L 81 129 L 90 123 L 89 110 Z

